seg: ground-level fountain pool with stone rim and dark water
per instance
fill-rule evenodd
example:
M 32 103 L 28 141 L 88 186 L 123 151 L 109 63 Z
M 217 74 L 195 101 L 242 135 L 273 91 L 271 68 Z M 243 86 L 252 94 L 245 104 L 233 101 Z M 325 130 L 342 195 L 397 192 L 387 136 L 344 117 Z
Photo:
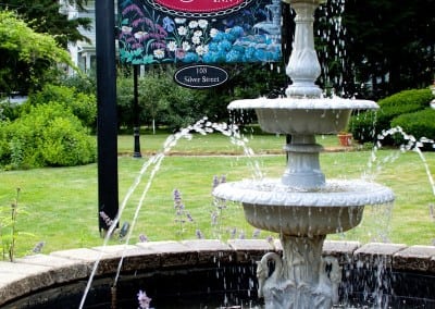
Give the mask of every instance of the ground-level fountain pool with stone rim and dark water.
M 0 276 L 0 307 L 76 309 L 90 274 L 89 264 L 101 250 L 101 268 L 85 308 L 110 308 L 110 287 L 122 256 L 126 259 L 117 287 L 117 309 L 137 308 L 139 289 L 147 292 L 158 309 L 201 308 L 207 299 L 221 306 L 228 304 L 225 299 L 240 305 L 247 296 L 254 304 L 259 300 L 254 261 L 268 251 L 282 252 L 279 242 L 271 246 L 263 239 L 233 239 L 226 244 L 201 239 L 77 248 L 28 256 L 14 263 L 0 261 L 0 273 L 7 274 Z M 337 308 L 435 306 L 433 246 L 326 240 L 323 255 L 337 257 L 343 267 L 341 305 Z M 376 286 L 378 283 L 382 286 Z M 385 307 L 374 301 L 376 295 L 382 296 Z M 185 305 L 199 296 L 197 304 Z

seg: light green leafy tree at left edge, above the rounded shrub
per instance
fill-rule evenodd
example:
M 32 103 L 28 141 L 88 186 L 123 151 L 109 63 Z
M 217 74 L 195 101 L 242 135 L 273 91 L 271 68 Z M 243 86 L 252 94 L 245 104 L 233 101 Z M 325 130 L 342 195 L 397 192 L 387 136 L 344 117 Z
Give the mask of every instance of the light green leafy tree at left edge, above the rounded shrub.
M 58 76 L 60 63 L 74 67 L 53 37 L 36 33 L 14 12 L 0 11 L 0 94 L 41 87 Z

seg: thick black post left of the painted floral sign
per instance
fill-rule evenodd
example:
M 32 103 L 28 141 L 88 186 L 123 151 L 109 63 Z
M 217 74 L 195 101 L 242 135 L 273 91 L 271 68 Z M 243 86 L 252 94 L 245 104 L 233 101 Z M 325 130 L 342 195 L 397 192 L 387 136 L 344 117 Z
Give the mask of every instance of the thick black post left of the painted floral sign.
M 119 212 L 115 14 L 113 0 L 96 0 L 98 218 L 100 233 Z M 105 233 L 104 233 L 105 234 Z

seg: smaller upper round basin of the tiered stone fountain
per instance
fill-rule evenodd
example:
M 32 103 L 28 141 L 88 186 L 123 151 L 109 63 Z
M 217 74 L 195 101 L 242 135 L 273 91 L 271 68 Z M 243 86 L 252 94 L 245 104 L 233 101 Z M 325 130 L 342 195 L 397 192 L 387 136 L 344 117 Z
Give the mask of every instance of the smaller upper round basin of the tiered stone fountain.
M 258 98 L 235 100 L 229 110 L 254 109 L 261 128 L 281 134 L 336 134 L 346 128 L 352 110 L 374 110 L 370 100 L 341 98 Z

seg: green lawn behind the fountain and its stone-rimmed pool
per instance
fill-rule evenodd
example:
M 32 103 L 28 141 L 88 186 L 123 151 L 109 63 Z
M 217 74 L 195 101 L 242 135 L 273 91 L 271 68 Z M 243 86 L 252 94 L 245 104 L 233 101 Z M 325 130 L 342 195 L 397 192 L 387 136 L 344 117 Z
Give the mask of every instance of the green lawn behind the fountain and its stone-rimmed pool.
M 142 159 L 133 159 L 133 137 L 120 136 L 119 178 L 120 198 L 126 195 L 139 176 L 142 164 L 150 153 L 156 153 L 166 138 L 165 135 L 142 135 Z M 283 137 L 254 136 L 249 140 L 256 153 L 281 153 Z M 332 137 L 320 137 L 319 143 L 328 147 L 337 145 Z M 181 140 L 173 148 L 174 153 L 208 153 L 235 156 L 166 156 L 152 180 L 150 189 L 138 212 L 130 243 L 138 242 L 140 234 L 150 240 L 195 238 L 200 230 L 206 237 L 236 237 L 244 233 L 250 238 L 253 228 L 249 226 L 238 205 L 228 203 L 222 211 L 221 224 L 211 225 L 211 213 L 215 211 L 211 196 L 212 178 L 225 174 L 228 181 L 250 177 L 254 166 L 259 165 L 266 176 L 279 177 L 285 157 L 260 156 L 246 158 L 243 149 L 228 143 L 221 135 L 195 136 L 191 141 Z M 362 224 L 346 233 L 333 235 L 333 239 L 390 240 L 407 245 L 431 245 L 435 238 L 428 205 L 435 202 L 434 191 L 422 160 L 415 152 L 400 153 L 397 150 L 380 150 L 376 160 L 370 164 L 371 151 L 341 151 L 321 154 L 321 165 L 327 178 L 361 177 L 370 175 L 381 184 L 389 186 L 396 194 L 393 210 L 388 207 L 366 207 Z M 425 152 L 425 159 L 435 174 L 435 153 Z M 133 222 L 136 208 L 147 187 L 149 175 L 154 166 L 142 175 L 141 182 L 126 202 L 121 221 Z M 0 208 L 7 210 L 15 198 L 16 188 L 21 188 L 18 230 L 33 233 L 17 240 L 18 255 L 32 250 L 38 242 L 46 242 L 44 252 L 77 247 L 91 247 L 102 244 L 98 231 L 97 211 L 97 165 L 76 168 L 36 169 L 28 171 L 0 172 Z M 173 190 L 182 193 L 183 202 L 194 218 L 185 223 L 181 233 L 173 201 Z M 121 200 L 122 201 L 122 200 Z M 23 213 L 26 210 L 26 213 Z M 121 222 L 121 223 L 122 223 Z M 259 237 L 266 237 L 262 232 Z M 112 239 L 111 244 L 117 244 Z

